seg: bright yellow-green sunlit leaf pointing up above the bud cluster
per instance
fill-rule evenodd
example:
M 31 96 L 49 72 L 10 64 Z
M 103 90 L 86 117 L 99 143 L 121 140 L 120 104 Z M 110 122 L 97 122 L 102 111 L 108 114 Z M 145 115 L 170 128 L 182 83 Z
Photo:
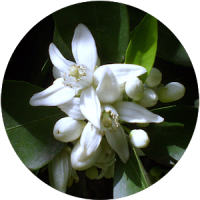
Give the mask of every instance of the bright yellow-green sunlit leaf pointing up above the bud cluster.
M 147 69 L 147 74 L 142 77 L 143 81 L 145 81 L 153 67 L 157 51 L 157 40 L 157 18 L 147 13 L 131 33 L 125 57 L 125 63 L 141 65 Z

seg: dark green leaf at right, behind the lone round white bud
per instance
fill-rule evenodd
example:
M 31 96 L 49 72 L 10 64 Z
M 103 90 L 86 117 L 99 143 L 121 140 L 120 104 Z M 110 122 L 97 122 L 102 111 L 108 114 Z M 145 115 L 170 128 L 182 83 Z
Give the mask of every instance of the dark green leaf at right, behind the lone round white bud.
M 170 106 L 153 110 L 164 117 L 160 124 L 143 128 L 150 144 L 142 149 L 146 156 L 167 166 L 176 165 L 185 153 L 195 132 L 198 109 L 187 106 Z

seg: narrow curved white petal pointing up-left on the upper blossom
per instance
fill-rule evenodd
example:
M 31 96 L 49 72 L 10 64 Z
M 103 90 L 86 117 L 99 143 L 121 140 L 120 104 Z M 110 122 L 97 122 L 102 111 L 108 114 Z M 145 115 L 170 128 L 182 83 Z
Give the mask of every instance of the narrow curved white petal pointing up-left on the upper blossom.
M 49 45 L 49 55 L 53 65 L 57 67 L 61 72 L 66 72 L 71 67 L 71 65 L 75 64 L 72 61 L 66 60 L 53 43 Z

